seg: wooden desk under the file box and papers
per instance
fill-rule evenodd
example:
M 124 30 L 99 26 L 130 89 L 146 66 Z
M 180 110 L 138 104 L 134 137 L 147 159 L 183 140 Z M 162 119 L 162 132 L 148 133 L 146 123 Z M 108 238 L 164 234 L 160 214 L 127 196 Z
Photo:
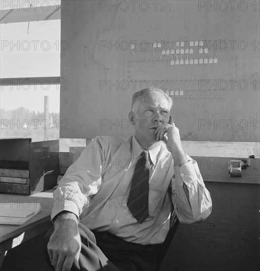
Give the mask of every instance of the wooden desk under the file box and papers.
M 52 223 L 50 221 L 51 209 L 54 203 L 52 193 L 55 189 L 46 190 L 32 196 L 18 194 L 0 194 L 1 203 L 40 203 L 41 211 L 21 226 L 0 225 L 0 266 L 5 251 L 27 241 L 30 238 L 47 231 Z M 15 204 L 14 204 L 15 206 Z

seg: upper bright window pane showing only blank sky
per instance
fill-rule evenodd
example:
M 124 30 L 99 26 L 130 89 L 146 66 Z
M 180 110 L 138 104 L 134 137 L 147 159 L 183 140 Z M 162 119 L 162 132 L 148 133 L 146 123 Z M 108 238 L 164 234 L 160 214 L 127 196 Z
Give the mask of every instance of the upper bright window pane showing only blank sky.
M 60 76 L 60 32 L 60 19 L 0 24 L 0 77 Z

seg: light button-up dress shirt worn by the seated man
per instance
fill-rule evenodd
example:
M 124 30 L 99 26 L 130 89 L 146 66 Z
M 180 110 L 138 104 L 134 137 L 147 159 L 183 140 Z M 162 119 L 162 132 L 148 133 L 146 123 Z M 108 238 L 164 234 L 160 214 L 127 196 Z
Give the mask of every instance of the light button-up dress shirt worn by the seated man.
M 210 193 L 197 163 L 174 166 L 163 141 L 149 149 L 149 217 L 139 224 L 127 199 L 135 165 L 144 148 L 135 136 L 97 136 L 69 167 L 54 192 L 51 219 L 66 210 L 80 217 L 90 230 L 109 231 L 125 241 L 162 243 L 169 230 L 172 203 L 180 223 L 194 223 L 211 213 Z M 189 201 L 183 189 L 188 190 Z M 167 192 L 171 188 L 171 194 Z

